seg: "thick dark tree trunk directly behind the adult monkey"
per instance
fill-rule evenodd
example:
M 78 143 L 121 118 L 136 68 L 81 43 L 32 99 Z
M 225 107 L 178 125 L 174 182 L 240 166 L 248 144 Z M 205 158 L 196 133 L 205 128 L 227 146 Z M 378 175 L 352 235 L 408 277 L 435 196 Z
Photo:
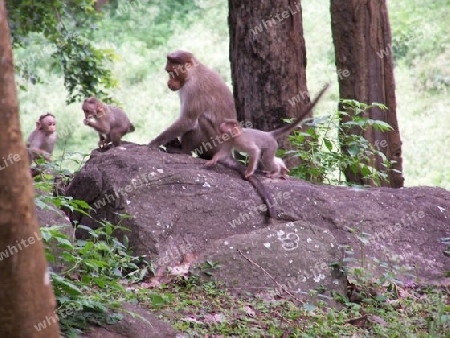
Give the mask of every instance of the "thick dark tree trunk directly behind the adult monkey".
M 273 130 L 310 102 L 300 1 L 229 0 L 228 21 L 238 119 Z

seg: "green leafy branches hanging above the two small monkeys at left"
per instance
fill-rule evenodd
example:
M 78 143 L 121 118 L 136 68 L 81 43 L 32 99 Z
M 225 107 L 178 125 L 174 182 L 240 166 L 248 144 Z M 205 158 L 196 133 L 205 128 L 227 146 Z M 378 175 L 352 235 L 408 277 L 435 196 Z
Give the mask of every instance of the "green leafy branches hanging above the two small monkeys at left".
M 31 33 L 42 34 L 46 39 L 45 44 L 56 47 L 52 57 L 64 73 L 67 103 L 87 96 L 107 99 L 105 91 L 116 86 L 110 65 L 114 60 L 113 51 L 95 48 L 88 38 L 92 33 L 90 29 L 80 29 L 83 26 L 91 27 L 92 22 L 98 19 L 100 14 L 94 10 L 94 2 L 19 0 L 14 1 L 13 5 L 7 2 L 14 47 L 33 44 L 35 39 L 42 40 L 41 36 Z M 16 68 L 17 73 L 32 84 L 42 82 L 41 78 L 35 76 L 36 72 L 30 63 L 19 64 Z M 24 84 L 20 86 L 25 89 Z

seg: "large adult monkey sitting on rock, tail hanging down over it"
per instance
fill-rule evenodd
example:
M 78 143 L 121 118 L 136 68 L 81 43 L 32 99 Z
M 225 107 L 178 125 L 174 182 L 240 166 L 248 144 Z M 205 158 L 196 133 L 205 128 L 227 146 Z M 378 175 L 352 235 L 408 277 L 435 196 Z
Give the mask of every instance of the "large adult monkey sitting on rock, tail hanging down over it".
M 233 94 L 219 74 L 200 63 L 192 53 L 182 50 L 169 53 L 166 71 L 169 74 L 168 87 L 180 94 L 180 116 L 149 146 L 158 147 L 179 137 L 182 153 L 195 152 L 203 159 L 211 159 L 223 143 L 220 124 L 225 119 L 237 118 Z M 245 166 L 231 155 L 220 162 L 245 178 Z M 270 217 L 277 218 L 273 198 L 261 181 L 254 176 L 248 180 L 268 206 Z

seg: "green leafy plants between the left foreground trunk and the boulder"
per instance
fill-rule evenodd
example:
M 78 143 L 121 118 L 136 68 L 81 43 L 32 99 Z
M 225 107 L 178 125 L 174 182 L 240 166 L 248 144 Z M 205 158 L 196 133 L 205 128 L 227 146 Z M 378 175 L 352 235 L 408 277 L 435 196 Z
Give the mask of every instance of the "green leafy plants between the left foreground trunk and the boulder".
M 84 201 L 62 196 L 52 196 L 53 166 L 44 167 L 35 178 L 36 205 L 61 213 L 60 208 L 88 215 L 89 205 Z M 46 174 L 52 170 L 53 174 Z M 61 176 L 61 174 L 59 174 Z M 58 176 L 57 176 L 58 177 Z M 124 216 L 126 217 L 126 216 Z M 85 239 L 75 239 L 75 231 L 83 231 Z M 144 256 L 133 256 L 128 248 L 128 239 L 123 244 L 114 233 L 126 231 L 120 225 L 99 222 L 95 230 L 77 225 L 68 231 L 68 226 L 42 227 L 46 257 L 56 271 L 50 276 L 58 302 L 58 317 L 66 336 L 78 336 L 80 329 L 89 325 L 112 324 L 122 318 L 120 305 L 127 298 L 134 298 L 125 287 L 142 281 L 153 268 Z

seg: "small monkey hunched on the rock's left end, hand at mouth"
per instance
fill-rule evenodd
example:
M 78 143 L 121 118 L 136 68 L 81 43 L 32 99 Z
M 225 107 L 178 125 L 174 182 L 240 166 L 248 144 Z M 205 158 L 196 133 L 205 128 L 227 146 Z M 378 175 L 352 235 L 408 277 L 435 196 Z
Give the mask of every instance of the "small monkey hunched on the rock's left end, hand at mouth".
M 81 108 L 85 117 L 83 123 L 98 132 L 99 148 L 106 148 L 111 142 L 118 147 L 122 137 L 135 130 L 122 109 L 104 104 L 95 97 L 85 99 Z

